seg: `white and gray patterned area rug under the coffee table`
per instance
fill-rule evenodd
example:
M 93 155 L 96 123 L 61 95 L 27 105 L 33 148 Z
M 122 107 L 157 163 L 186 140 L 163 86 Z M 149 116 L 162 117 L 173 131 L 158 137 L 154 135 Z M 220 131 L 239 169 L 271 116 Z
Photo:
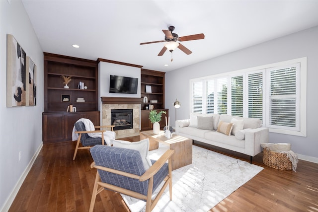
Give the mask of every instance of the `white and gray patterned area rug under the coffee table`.
M 150 158 L 157 160 L 166 149 L 160 144 Z M 263 169 L 195 145 L 192 155 L 192 164 L 172 171 L 172 201 L 166 188 L 153 212 L 207 212 Z M 122 197 L 132 212 L 145 211 L 146 202 Z

